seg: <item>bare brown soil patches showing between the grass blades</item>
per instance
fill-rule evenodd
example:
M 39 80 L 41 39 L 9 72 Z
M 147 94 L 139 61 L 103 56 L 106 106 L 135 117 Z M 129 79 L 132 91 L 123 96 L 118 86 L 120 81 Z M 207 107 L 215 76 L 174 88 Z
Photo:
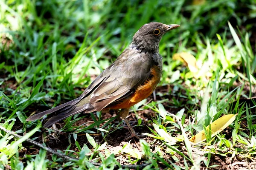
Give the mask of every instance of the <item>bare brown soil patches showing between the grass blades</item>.
M 163 98 L 169 98 L 170 100 L 172 100 L 172 97 L 169 94 L 170 89 L 172 89 L 172 87 L 170 86 L 163 86 L 163 87 L 159 87 L 157 88 L 156 92 L 161 92 L 163 94 L 162 97 L 157 95 L 157 100 L 163 99 Z M 153 100 L 153 95 L 148 97 L 148 101 Z M 183 101 L 184 103 L 186 103 L 186 101 Z M 177 113 L 177 111 L 180 111 L 181 108 L 177 108 L 177 107 L 172 107 L 172 105 L 170 104 L 171 102 L 168 103 L 163 103 L 163 105 L 166 107 L 167 111 L 170 111 L 171 113 Z M 35 106 L 35 108 L 34 108 Z M 36 105 L 32 105 L 28 108 L 28 112 L 32 113 L 32 112 L 41 112 L 44 110 L 47 110 L 47 107 L 38 107 Z M 186 109 L 185 113 L 188 110 Z M 151 129 L 154 129 L 152 126 L 152 117 L 155 117 L 157 115 L 155 115 L 155 112 L 152 111 L 151 109 L 145 109 L 142 111 L 138 111 L 137 112 L 139 118 L 142 119 L 142 123 L 140 126 L 136 126 L 137 125 L 137 119 L 135 116 L 134 112 L 131 112 L 128 116 L 128 120 L 130 121 L 131 125 L 134 126 L 134 130 L 141 134 L 141 133 L 151 133 L 148 127 L 151 127 Z M 79 116 L 84 116 L 84 114 L 80 114 Z M 113 111 L 110 111 L 110 113 L 105 113 L 102 114 L 102 119 L 108 119 L 111 118 L 113 116 L 116 116 L 116 114 Z M 188 118 L 189 115 L 187 115 Z M 44 120 L 45 122 L 46 120 Z M 188 122 L 189 119 L 186 119 L 185 122 Z M 76 122 L 75 126 L 79 126 L 79 125 L 83 125 L 84 126 L 88 126 L 90 124 L 92 124 L 94 121 L 93 119 L 90 117 L 90 115 L 88 114 L 88 116 L 85 116 L 83 119 L 79 120 L 78 122 Z M 102 137 L 102 133 L 99 133 L 96 131 L 96 129 L 92 129 L 95 130 L 94 134 L 91 134 L 91 136 L 93 136 L 94 140 L 99 143 L 102 144 L 103 142 L 107 142 L 107 148 L 110 152 L 114 152 L 115 150 L 121 150 L 122 147 L 127 144 L 128 142 L 130 143 L 131 147 L 133 147 L 137 152 L 142 152 L 142 147 L 140 146 L 140 142 L 138 139 L 133 138 L 131 139 L 131 141 L 123 141 L 123 139 L 125 139 L 127 136 L 130 135 L 130 131 L 128 129 L 128 127 L 126 125 L 121 125 L 119 127 L 117 127 L 117 125 L 119 124 L 119 121 L 116 119 L 114 120 L 111 125 L 113 125 L 113 127 L 116 128 L 112 128 L 110 130 L 111 133 L 109 133 L 105 139 L 103 139 Z M 241 122 L 241 126 L 246 126 L 246 120 L 244 119 L 244 122 Z M 22 126 L 20 124 L 20 126 Z M 15 124 L 15 129 L 20 129 L 20 126 Z M 35 133 L 30 139 L 33 139 L 35 137 L 38 137 L 37 139 L 35 139 L 35 141 L 37 142 L 45 142 L 47 144 L 48 147 L 52 148 L 53 150 L 66 150 L 67 147 L 70 145 L 71 142 L 71 147 L 70 150 L 74 150 L 74 151 L 79 151 L 78 148 L 75 145 L 75 140 L 73 139 L 73 136 L 71 135 L 72 133 L 66 133 L 63 131 L 60 131 L 58 129 L 60 129 L 61 127 L 64 126 L 64 122 L 61 121 L 59 123 L 56 124 L 56 131 L 55 133 L 51 133 L 50 135 L 48 135 L 48 131 L 44 128 L 42 128 L 41 132 L 37 132 Z M 148 126 L 148 127 L 147 127 Z M 29 129 L 28 129 L 29 130 Z M 245 133 L 248 133 L 246 131 L 244 131 Z M 105 133 L 106 134 L 106 133 Z M 223 134 L 225 134 L 225 138 L 228 140 L 232 140 L 232 131 L 231 128 L 227 128 L 226 130 L 223 131 Z M 70 137 L 70 142 L 69 142 L 69 136 Z M 43 139 L 44 136 L 44 139 Z M 190 136 L 188 136 L 190 137 Z M 144 140 L 146 142 L 148 142 L 148 144 L 150 144 L 151 146 L 151 151 L 154 152 L 155 151 L 155 147 L 157 145 L 160 145 L 160 141 L 156 140 L 154 138 L 151 137 L 145 137 Z M 80 133 L 77 136 L 77 141 L 79 142 L 80 146 L 83 146 L 84 144 L 87 144 L 87 146 L 91 149 L 92 146 L 90 145 L 90 143 L 87 141 L 87 138 L 85 136 L 85 133 Z M 179 146 L 177 149 L 180 150 L 182 153 L 184 153 L 186 156 L 188 156 L 187 151 L 186 151 L 186 147 L 185 144 L 183 142 L 180 142 L 177 144 L 177 146 Z M 26 154 L 29 155 L 35 155 L 39 153 L 39 147 L 36 146 L 31 146 L 30 143 L 28 142 L 24 142 L 23 143 L 23 147 L 24 149 L 20 151 L 20 157 L 22 158 L 23 156 L 25 156 Z M 199 147 L 193 147 L 193 155 L 195 156 L 194 159 L 197 159 L 199 157 L 202 156 L 206 156 L 207 154 L 204 153 L 204 151 L 201 150 L 201 148 L 203 148 L 204 146 L 199 146 Z M 239 146 L 236 146 L 239 147 Z M 175 156 L 177 157 L 177 159 L 179 161 L 175 161 L 172 158 L 172 155 L 165 153 L 165 147 L 161 147 L 162 149 L 162 156 L 163 158 L 168 161 L 172 161 L 173 163 L 179 165 L 179 166 L 183 166 L 184 167 L 184 159 L 182 156 L 180 156 L 179 154 L 175 153 Z M 232 150 L 230 150 L 230 152 L 232 152 Z M 102 151 L 102 154 L 104 154 L 104 151 Z M 211 159 L 209 162 L 209 166 L 212 165 L 218 165 L 217 167 L 212 167 L 212 168 L 208 168 L 208 169 L 212 169 L 212 170 L 244 170 L 244 169 L 256 169 L 256 161 L 255 159 L 245 159 L 239 156 L 236 156 L 234 158 L 232 158 L 232 154 L 226 154 L 225 156 L 223 156 L 224 154 L 212 154 L 211 155 Z M 47 159 L 51 159 L 52 154 L 48 153 L 47 154 Z M 125 154 L 120 154 L 118 155 L 118 159 L 117 161 L 119 161 L 121 164 L 128 164 L 126 161 L 123 161 L 125 159 L 127 159 L 128 156 Z M 135 160 L 132 157 L 130 158 L 131 161 Z M 144 161 L 143 159 L 141 159 L 139 162 L 137 162 L 137 164 L 143 164 Z M 187 164 L 189 166 L 192 166 L 191 163 L 189 163 L 187 161 Z M 206 169 L 205 164 L 201 161 L 201 169 L 204 170 Z M 162 164 L 160 164 L 160 169 L 165 169 L 166 167 Z

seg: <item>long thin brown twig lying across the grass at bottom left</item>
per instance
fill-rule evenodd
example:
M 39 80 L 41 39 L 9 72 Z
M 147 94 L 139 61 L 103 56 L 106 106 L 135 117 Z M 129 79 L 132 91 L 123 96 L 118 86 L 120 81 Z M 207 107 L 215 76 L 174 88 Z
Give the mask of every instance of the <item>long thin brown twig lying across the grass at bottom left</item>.
M 10 130 L 7 130 L 7 129 L 4 128 L 3 126 L 0 126 L 0 129 L 3 130 L 3 131 L 5 131 L 6 133 L 11 134 L 12 136 L 17 137 L 17 138 L 22 138 L 22 137 L 23 137 L 23 136 L 20 136 L 20 135 L 18 135 L 18 134 L 16 134 L 16 133 L 12 132 L 12 131 L 10 131 Z M 66 160 L 68 160 L 68 161 L 78 161 L 78 160 L 79 160 L 79 159 L 77 159 L 77 158 L 73 158 L 73 157 L 67 156 L 67 155 L 65 155 L 65 154 L 63 154 L 63 153 L 58 153 L 57 151 L 55 151 L 55 150 L 53 150 L 53 149 L 51 149 L 51 148 L 49 148 L 49 147 L 46 147 L 46 146 L 44 146 L 43 144 L 40 144 L 40 143 L 38 143 L 38 142 L 35 142 L 34 140 L 26 139 L 25 141 L 26 141 L 26 142 L 29 142 L 29 143 L 32 143 L 32 144 L 34 144 L 34 145 L 36 145 L 36 146 L 38 146 L 38 147 L 41 147 L 42 149 L 44 149 L 44 150 L 46 150 L 46 151 L 48 151 L 48 152 L 50 152 L 50 153 L 53 153 L 53 154 L 55 154 L 55 155 L 57 155 L 57 156 L 59 156 L 59 157 L 61 157 L 61 158 L 63 158 L 63 159 L 66 159 Z M 101 166 L 101 165 L 102 165 L 101 163 L 97 163 L 97 162 L 93 162 L 93 161 L 89 161 L 89 162 L 90 162 L 91 164 L 95 165 L 95 166 Z M 147 165 L 148 165 L 148 164 L 140 164 L 140 165 L 121 165 L 121 167 L 122 167 L 122 168 L 128 168 L 128 169 L 143 169 L 143 168 L 146 167 Z M 117 169 L 117 168 L 119 168 L 118 165 L 115 165 L 115 169 Z

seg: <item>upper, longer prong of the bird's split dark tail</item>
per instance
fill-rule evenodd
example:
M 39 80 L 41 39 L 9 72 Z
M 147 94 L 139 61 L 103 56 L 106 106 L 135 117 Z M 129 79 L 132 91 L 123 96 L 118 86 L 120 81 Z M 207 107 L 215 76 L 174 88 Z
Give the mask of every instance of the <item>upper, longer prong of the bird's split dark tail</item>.
M 71 100 L 70 102 L 67 102 L 67 103 L 64 103 L 62 105 L 59 105 L 55 108 L 52 108 L 52 109 L 49 109 L 47 111 L 43 111 L 41 113 L 37 113 L 33 116 L 30 116 L 28 119 L 26 119 L 26 121 L 34 121 L 34 120 L 37 120 L 37 119 L 40 119 L 41 117 L 43 117 L 44 115 L 47 115 L 47 114 L 50 114 L 50 113 L 54 113 L 54 112 L 63 112 L 63 111 L 67 111 L 69 110 L 70 108 L 72 108 L 74 106 L 74 102 L 76 99 L 74 100 Z

